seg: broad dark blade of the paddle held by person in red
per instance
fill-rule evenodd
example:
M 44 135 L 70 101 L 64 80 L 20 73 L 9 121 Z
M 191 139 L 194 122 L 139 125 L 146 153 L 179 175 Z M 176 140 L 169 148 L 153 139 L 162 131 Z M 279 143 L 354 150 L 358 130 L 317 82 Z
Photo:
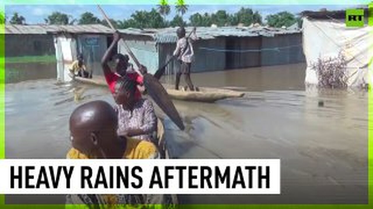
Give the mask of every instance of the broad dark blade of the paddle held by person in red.
M 160 109 L 166 113 L 166 115 L 179 127 L 179 129 L 184 130 L 185 126 L 180 118 L 179 112 L 173 105 L 166 89 L 164 89 L 162 84 L 159 83 L 159 80 L 154 78 L 153 75 L 145 73 L 144 86 L 149 96 L 160 107 Z

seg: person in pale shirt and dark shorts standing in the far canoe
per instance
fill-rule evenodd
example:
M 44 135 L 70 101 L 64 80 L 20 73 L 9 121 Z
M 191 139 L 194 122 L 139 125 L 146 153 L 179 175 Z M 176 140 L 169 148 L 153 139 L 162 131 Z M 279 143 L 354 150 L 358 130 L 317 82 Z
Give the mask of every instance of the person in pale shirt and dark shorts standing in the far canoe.
M 194 91 L 194 86 L 190 78 L 190 68 L 194 58 L 192 41 L 197 39 L 197 36 L 195 35 L 195 28 L 193 28 L 193 33 L 190 38 L 185 37 L 184 27 L 178 28 L 176 30 L 176 35 L 178 36 L 179 40 L 176 43 L 176 49 L 173 52 L 173 55 L 178 58 L 181 67 L 176 73 L 175 89 L 179 90 L 180 77 L 181 74 L 184 74 L 185 83 L 188 85 L 189 90 Z

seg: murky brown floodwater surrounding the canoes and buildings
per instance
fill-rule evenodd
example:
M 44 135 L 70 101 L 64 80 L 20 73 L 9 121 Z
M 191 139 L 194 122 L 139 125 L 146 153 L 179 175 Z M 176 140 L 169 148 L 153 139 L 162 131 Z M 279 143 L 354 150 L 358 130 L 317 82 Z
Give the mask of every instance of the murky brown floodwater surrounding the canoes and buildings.
M 279 158 L 281 195 L 182 195 L 181 203 L 367 203 L 368 94 L 305 88 L 304 76 L 305 64 L 192 75 L 197 86 L 234 87 L 245 96 L 174 101 L 186 130 L 164 118 L 172 157 Z M 106 88 L 55 79 L 6 84 L 6 157 L 64 158 L 70 113 L 97 99 L 113 103 Z M 6 197 L 6 203 L 63 202 L 63 196 Z

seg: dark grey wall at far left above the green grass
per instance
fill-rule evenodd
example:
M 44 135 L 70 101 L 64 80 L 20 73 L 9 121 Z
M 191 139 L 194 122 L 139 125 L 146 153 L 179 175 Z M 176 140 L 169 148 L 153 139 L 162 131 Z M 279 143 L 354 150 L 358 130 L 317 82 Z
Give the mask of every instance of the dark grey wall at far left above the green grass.
M 42 56 L 54 55 L 52 35 L 5 35 L 5 56 Z

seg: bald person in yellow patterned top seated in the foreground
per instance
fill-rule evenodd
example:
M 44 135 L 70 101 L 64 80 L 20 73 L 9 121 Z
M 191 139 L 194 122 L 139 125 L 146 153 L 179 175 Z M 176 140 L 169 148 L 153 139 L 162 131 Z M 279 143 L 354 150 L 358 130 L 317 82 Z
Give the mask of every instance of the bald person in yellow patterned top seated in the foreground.
M 104 101 L 93 101 L 77 107 L 70 116 L 69 129 L 72 148 L 68 159 L 156 159 L 159 152 L 155 145 L 117 135 L 118 119 L 113 107 Z M 164 195 L 71 194 L 67 204 L 90 205 L 107 208 L 113 204 L 162 204 Z M 72 208 L 74 208 L 72 206 Z M 110 207 L 109 207 L 110 208 Z

